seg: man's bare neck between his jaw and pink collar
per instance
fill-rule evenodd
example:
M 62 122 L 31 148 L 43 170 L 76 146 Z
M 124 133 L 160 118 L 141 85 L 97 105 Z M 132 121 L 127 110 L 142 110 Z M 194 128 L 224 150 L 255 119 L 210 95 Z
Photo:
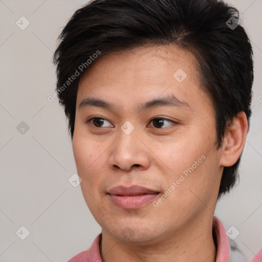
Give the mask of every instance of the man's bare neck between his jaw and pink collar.
M 175 232 L 145 242 L 120 242 L 102 230 L 100 254 L 103 262 L 215 262 L 216 246 L 212 235 L 212 220 L 188 222 Z

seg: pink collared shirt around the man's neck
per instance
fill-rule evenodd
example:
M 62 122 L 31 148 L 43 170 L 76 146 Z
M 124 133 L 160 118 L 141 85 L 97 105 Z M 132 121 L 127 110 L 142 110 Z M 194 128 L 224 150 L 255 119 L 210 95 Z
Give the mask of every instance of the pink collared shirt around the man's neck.
M 217 253 L 216 262 L 230 262 L 230 248 L 229 241 L 227 238 L 226 230 L 217 217 L 213 216 L 213 229 L 215 232 L 216 243 L 217 243 Z M 72 257 L 68 262 L 102 262 L 100 256 L 99 244 L 102 233 L 100 233 L 94 240 L 90 249 L 85 250 L 78 255 Z M 262 249 L 257 253 L 256 256 L 251 260 L 251 262 L 261 262 L 262 261 Z

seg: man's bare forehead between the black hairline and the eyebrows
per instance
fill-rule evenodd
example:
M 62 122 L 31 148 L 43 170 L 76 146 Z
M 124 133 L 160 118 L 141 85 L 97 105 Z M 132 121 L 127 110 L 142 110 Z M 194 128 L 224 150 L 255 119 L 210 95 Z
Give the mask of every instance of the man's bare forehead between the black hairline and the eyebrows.
M 190 52 L 165 45 L 106 54 L 81 77 L 77 106 L 91 96 L 137 107 L 138 102 L 161 95 L 174 95 L 187 103 L 192 97 L 208 99 L 201 88 L 197 61 Z

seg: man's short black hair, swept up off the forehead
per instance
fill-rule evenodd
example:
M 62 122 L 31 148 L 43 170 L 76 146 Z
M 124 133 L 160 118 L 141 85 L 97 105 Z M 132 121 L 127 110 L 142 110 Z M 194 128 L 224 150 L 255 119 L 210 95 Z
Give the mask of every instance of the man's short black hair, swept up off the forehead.
M 89 64 L 113 51 L 173 44 L 198 62 L 214 107 L 216 148 L 221 148 L 232 119 L 244 111 L 249 125 L 251 115 L 253 51 L 239 21 L 238 10 L 218 0 L 94 0 L 78 9 L 54 53 L 56 92 L 71 139 L 78 83 Z M 74 74 L 78 77 L 69 81 Z M 235 185 L 241 156 L 224 167 L 218 198 Z

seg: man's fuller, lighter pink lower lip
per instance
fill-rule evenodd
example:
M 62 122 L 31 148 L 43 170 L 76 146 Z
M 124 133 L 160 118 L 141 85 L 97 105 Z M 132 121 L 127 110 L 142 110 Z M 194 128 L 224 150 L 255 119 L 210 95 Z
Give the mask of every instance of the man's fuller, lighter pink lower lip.
M 114 204 L 116 204 L 119 208 L 123 209 L 136 209 L 144 206 L 149 201 L 154 200 L 157 198 L 159 193 L 155 194 L 142 194 L 136 195 L 134 197 L 128 196 L 124 197 L 123 195 L 112 195 L 108 194 L 110 199 Z

